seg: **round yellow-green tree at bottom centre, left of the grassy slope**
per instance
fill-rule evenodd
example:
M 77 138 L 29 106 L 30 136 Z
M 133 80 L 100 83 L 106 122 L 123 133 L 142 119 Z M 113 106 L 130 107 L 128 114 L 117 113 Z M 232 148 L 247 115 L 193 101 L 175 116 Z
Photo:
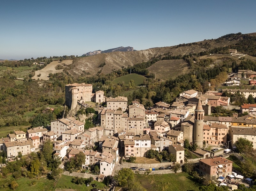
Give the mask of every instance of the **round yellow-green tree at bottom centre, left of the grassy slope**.
M 134 180 L 134 173 L 130 168 L 122 168 L 118 171 L 117 175 L 114 176 L 114 179 L 117 181 L 117 185 L 128 187 Z

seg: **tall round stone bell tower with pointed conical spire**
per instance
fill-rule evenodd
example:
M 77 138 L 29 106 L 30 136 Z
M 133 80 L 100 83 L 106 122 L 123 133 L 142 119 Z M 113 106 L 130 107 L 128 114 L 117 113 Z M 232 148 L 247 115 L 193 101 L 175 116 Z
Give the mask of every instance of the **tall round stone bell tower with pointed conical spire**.
M 197 107 L 195 110 L 194 140 L 193 140 L 193 143 L 194 144 L 196 143 L 199 148 L 203 147 L 204 115 L 205 115 L 205 111 L 203 110 L 201 99 L 199 97 Z

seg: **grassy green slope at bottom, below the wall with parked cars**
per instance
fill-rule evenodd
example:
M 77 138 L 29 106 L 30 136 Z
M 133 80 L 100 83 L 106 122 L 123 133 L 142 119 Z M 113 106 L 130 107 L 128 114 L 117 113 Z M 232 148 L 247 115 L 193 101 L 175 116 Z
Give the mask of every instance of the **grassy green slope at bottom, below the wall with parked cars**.
M 136 174 L 135 179 L 147 191 L 183 191 L 183 190 L 199 190 L 193 177 L 188 173 L 173 173 L 173 174 L 155 174 L 142 175 Z

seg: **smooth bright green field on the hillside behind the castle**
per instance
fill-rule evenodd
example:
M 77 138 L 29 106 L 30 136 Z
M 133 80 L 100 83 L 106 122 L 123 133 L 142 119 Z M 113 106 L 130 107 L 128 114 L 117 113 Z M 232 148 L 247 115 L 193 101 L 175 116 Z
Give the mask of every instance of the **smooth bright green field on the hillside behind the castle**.
M 136 86 L 141 86 L 143 84 L 143 80 L 146 79 L 144 76 L 139 74 L 127 74 L 124 76 L 120 76 L 112 81 L 112 84 L 118 84 L 119 82 L 124 82 L 125 85 L 129 85 L 130 80 L 134 80 Z

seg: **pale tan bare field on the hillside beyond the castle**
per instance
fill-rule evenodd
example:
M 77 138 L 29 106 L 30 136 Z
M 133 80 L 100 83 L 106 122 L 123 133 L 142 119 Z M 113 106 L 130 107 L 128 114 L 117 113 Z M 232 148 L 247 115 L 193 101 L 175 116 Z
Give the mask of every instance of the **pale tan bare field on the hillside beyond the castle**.
M 63 60 L 62 63 L 59 63 L 58 61 L 53 61 L 51 62 L 50 64 L 48 64 L 46 67 L 44 67 L 42 70 L 37 70 L 35 71 L 35 75 L 32 77 L 33 80 L 37 80 L 39 78 L 39 80 L 49 80 L 49 74 L 52 73 L 52 74 L 55 74 L 57 72 L 62 72 L 63 69 L 61 70 L 56 70 L 55 67 L 58 65 L 58 64 L 66 64 L 66 65 L 69 65 L 69 64 L 72 64 L 73 60 Z M 37 76 L 41 74 L 41 76 Z

